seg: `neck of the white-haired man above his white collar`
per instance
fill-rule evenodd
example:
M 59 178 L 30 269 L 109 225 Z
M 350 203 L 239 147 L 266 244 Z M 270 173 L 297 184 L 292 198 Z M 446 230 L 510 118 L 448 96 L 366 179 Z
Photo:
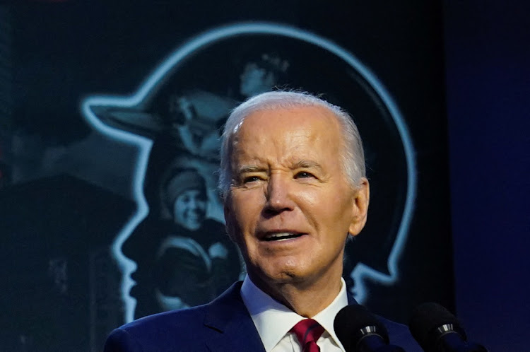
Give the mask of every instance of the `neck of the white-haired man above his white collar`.
M 278 302 L 302 317 L 314 317 L 333 302 L 341 291 L 341 273 L 326 275 L 307 283 L 307 280 L 268 283 L 250 276 L 252 282 Z

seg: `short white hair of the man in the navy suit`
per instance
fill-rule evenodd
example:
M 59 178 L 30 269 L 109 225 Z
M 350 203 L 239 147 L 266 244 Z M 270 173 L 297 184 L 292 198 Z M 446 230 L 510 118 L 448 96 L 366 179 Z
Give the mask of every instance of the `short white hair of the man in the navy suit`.
M 254 95 L 252 98 L 242 102 L 242 104 L 232 110 L 226 120 L 220 146 L 219 188 L 223 199 L 228 196 L 232 184 L 232 165 L 230 165 L 232 140 L 244 122 L 245 117 L 259 111 L 294 109 L 297 107 L 324 107 L 336 117 L 341 125 L 343 137 L 343 148 L 340 156 L 343 171 L 353 188 L 357 188 L 360 185 L 361 177 L 365 177 L 366 174 L 363 141 L 361 141 L 357 126 L 355 126 L 348 112 L 310 93 L 276 90 Z

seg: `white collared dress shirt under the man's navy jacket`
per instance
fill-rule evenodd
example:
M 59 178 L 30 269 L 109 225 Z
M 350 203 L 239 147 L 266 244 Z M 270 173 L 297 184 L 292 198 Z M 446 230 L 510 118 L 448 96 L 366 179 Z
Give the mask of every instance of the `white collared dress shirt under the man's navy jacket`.
M 312 317 L 324 327 L 324 333 L 317 341 L 317 345 L 322 352 L 344 352 L 341 341 L 338 341 L 333 327 L 338 311 L 348 305 L 346 283 L 343 279 L 341 279 L 341 282 L 341 291 L 334 301 Z M 289 330 L 300 320 L 306 319 L 305 317 L 296 314 L 285 305 L 271 298 L 270 295 L 261 291 L 248 276 L 245 277 L 245 281 L 243 281 L 241 286 L 241 297 L 252 317 L 252 321 L 254 321 L 254 325 L 256 325 L 266 352 L 302 351 L 302 346 L 300 346 L 296 335 L 289 332 Z

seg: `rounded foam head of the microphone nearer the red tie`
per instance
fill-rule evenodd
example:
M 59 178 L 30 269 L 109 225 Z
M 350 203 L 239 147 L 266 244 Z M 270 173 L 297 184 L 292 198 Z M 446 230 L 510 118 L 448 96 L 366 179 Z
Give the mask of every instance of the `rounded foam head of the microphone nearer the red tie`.
M 389 343 L 387 328 L 362 305 L 346 305 L 336 315 L 335 334 L 346 351 L 358 351 L 359 342 L 368 335 L 378 335 Z

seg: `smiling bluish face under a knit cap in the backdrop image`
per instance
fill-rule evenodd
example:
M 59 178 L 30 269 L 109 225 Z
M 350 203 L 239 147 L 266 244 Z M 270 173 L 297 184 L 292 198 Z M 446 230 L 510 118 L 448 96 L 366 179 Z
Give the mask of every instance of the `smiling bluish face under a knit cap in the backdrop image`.
M 173 204 L 173 218 L 188 230 L 198 230 L 206 216 L 206 195 L 199 189 L 187 189 Z

